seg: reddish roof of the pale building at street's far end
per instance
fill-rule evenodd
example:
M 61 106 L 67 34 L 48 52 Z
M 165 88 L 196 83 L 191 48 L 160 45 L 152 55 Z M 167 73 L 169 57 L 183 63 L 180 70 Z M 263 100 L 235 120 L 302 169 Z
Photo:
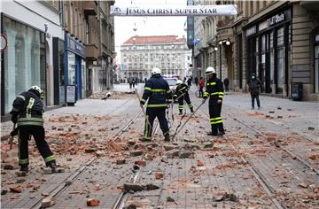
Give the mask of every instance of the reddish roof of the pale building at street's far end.
M 134 40 L 135 39 L 135 40 Z M 132 36 L 123 44 L 134 43 L 186 43 L 183 38 L 178 38 L 177 35 L 153 35 L 153 36 Z

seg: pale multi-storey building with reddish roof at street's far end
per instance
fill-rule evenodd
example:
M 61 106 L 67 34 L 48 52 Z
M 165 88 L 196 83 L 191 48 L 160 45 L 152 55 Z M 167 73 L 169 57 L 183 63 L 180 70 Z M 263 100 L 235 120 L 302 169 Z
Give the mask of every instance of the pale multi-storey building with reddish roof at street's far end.
M 162 74 L 175 74 L 182 78 L 188 70 L 186 54 L 190 55 L 186 40 L 175 35 L 130 37 L 121 44 L 121 64 L 126 75 L 121 79 L 142 81 L 150 78 L 153 67 L 159 67 Z

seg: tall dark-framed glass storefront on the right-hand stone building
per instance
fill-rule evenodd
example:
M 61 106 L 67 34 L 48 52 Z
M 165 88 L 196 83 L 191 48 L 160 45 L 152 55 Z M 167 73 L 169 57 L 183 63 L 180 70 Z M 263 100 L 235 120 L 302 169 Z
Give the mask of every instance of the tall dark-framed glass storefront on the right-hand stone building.
M 261 92 L 289 95 L 291 8 L 270 12 L 245 26 L 248 75 L 261 80 Z

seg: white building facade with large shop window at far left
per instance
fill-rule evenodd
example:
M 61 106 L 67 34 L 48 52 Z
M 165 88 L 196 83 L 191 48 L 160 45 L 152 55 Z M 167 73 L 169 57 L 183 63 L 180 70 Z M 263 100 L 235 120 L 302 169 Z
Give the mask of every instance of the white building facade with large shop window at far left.
M 54 97 L 58 97 L 54 91 L 54 69 L 59 64 L 54 62 L 57 48 L 53 40 L 63 43 L 65 37 L 58 1 L 5 1 L 0 4 L 1 34 L 8 43 L 1 52 L 3 119 L 11 111 L 15 97 L 32 85 L 43 89 L 44 104 L 54 104 Z

